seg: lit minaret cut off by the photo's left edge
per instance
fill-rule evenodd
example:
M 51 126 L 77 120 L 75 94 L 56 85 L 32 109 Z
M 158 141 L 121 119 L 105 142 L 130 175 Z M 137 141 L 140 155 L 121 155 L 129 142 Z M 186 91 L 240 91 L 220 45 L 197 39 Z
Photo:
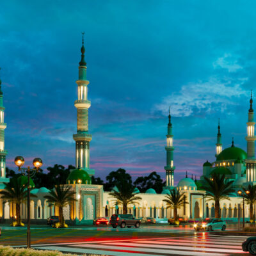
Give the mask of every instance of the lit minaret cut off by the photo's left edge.
M 1 69 L 1 68 L 0 68 Z M 4 106 L 3 106 L 3 92 L 1 89 L 0 79 L 0 189 L 4 187 L 3 182 L 9 182 L 9 179 L 5 177 L 5 157 L 7 151 L 4 150 L 4 129 L 6 124 L 4 123 Z

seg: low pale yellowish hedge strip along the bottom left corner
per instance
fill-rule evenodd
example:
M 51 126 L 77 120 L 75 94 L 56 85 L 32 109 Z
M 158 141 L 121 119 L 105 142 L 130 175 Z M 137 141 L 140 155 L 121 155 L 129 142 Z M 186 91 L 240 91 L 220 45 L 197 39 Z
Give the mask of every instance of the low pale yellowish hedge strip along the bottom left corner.
M 34 250 L 27 248 L 12 248 L 10 246 L 0 245 L 0 256 L 78 256 L 76 254 L 64 254 L 58 251 L 44 251 Z M 84 254 L 90 256 L 96 256 L 96 254 Z

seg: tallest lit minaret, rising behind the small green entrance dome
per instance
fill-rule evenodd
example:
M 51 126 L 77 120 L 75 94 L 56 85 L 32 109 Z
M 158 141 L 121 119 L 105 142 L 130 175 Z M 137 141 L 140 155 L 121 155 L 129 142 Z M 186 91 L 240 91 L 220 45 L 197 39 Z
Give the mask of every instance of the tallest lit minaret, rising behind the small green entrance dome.
M 86 62 L 84 60 L 84 33 L 83 45 L 81 47 L 81 61 L 79 62 L 79 75 L 77 83 L 78 99 L 75 101 L 77 108 L 77 134 L 73 135 L 76 141 L 76 168 L 84 169 L 89 175 L 94 175 L 94 170 L 90 170 L 90 141 L 92 135 L 88 133 L 88 108 L 91 106 L 87 99 L 88 84 L 86 80 Z

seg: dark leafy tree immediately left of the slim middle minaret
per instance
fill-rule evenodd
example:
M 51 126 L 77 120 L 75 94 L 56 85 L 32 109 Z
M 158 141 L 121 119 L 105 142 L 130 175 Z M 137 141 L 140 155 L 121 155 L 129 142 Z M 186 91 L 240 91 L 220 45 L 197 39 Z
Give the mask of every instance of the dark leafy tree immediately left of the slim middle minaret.
M 133 184 L 141 191 L 141 193 L 145 193 L 149 188 L 155 189 L 156 193 L 161 193 L 164 186 L 161 176 L 156 172 L 152 172 L 148 176 L 138 177 Z

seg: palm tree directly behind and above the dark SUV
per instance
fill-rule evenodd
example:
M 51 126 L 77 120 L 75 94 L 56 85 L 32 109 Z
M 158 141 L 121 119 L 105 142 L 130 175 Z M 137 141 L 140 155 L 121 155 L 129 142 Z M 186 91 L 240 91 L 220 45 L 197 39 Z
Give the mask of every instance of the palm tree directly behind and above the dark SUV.
M 126 180 L 120 182 L 120 184 L 116 184 L 116 190 L 109 193 L 112 198 L 115 198 L 113 201 L 116 204 L 123 205 L 123 213 L 127 214 L 127 205 L 135 204 L 138 200 L 142 198 L 140 196 L 136 196 L 138 193 L 134 193 L 135 186 L 126 182 Z

